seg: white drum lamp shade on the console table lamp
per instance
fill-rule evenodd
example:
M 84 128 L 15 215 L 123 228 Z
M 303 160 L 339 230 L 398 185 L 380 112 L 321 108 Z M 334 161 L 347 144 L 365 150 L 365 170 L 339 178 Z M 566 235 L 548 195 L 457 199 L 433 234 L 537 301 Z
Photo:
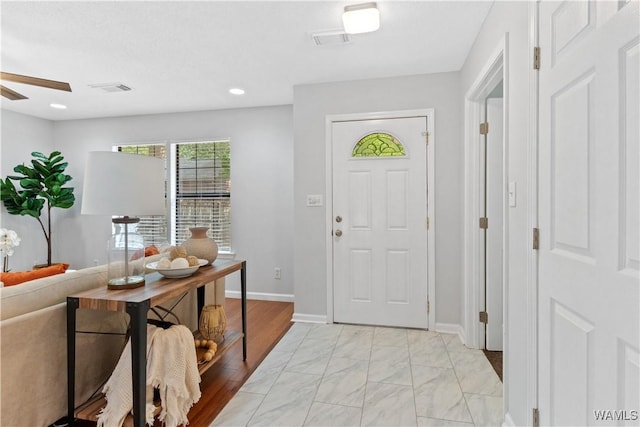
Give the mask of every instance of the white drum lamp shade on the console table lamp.
M 165 214 L 164 161 L 114 151 L 91 151 L 82 189 L 82 213 Z

